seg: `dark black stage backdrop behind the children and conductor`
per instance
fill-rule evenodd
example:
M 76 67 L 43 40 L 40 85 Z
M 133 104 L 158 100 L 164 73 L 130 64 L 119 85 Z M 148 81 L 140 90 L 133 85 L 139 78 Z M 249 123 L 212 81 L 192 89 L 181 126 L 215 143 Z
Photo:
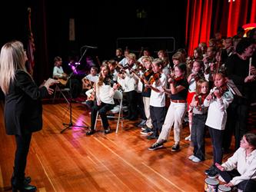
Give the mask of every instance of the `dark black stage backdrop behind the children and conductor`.
M 96 56 L 100 61 L 114 57 L 117 38 L 173 37 L 175 48 L 184 48 L 186 3 L 185 0 L 113 0 L 82 3 L 75 0 L 9 0 L 5 11 L 1 13 L 2 18 L 6 18 L 2 21 L 5 21 L 4 25 L 7 27 L 1 45 L 10 39 L 27 43 L 27 8 L 30 6 L 32 32 L 35 37 L 33 75 L 39 83 L 51 77 L 53 58 L 56 55 L 63 58 L 64 68 L 67 68 L 71 57 L 76 60 L 80 58 L 81 52 L 84 51 L 81 50 L 83 45 L 98 47 L 89 49 L 85 54 L 94 61 Z M 12 18 L 8 14 L 12 14 Z M 69 41 L 70 18 L 75 19 L 75 41 Z M 154 44 L 145 46 L 157 51 Z M 81 68 L 86 68 L 85 59 L 81 61 Z

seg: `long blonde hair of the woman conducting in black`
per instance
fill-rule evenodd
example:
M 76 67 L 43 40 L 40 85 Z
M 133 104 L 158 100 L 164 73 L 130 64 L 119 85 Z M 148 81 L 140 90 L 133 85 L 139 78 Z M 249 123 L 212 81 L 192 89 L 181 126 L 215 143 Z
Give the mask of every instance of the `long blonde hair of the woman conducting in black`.
M 15 80 L 17 70 L 26 71 L 26 56 L 21 41 L 10 41 L 2 46 L 0 54 L 0 87 L 8 94 L 9 86 Z

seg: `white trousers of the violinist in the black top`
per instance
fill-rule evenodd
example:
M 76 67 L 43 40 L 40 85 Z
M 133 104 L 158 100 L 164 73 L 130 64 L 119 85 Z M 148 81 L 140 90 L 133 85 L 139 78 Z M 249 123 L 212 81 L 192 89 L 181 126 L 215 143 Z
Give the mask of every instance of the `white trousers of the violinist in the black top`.
M 161 143 L 162 141 L 168 141 L 168 137 L 170 135 L 171 127 L 173 124 L 175 143 L 181 141 L 182 121 L 186 111 L 186 103 L 171 102 L 165 117 L 165 123 L 161 128 L 161 134 L 158 137 L 157 143 Z

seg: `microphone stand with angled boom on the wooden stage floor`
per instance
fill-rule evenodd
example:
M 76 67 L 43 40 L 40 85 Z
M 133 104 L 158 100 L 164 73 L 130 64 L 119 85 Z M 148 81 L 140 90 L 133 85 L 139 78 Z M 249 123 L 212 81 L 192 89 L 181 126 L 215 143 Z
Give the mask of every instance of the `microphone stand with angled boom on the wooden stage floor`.
M 81 55 L 81 58 L 84 57 L 85 55 L 85 52 L 88 50 L 88 48 L 85 49 L 83 55 Z M 81 61 L 81 58 L 79 59 L 78 61 L 78 64 L 80 63 Z M 78 65 L 75 66 L 75 69 L 71 72 L 71 74 L 69 75 L 68 79 L 69 79 L 69 90 L 70 90 L 70 98 L 71 98 L 71 101 L 68 102 L 69 104 L 69 123 L 68 124 L 63 124 L 65 126 L 64 129 L 62 129 L 61 131 L 61 134 L 66 131 L 67 129 L 71 129 L 71 127 L 88 127 L 88 126 L 81 126 L 81 125 L 77 125 L 77 124 L 73 124 L 72 123 L 72 94 L 71 94 L 71 77 L 72 75 L 74 74 L 76 68 L 78 67 Z

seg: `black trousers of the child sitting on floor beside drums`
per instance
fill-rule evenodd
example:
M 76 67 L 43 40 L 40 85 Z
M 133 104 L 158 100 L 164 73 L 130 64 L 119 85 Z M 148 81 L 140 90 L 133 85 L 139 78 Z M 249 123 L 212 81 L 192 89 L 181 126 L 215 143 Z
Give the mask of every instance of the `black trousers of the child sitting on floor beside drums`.
M 217 169 L 218 174 L 226 181 L 228 184 L 234 177 L 240 176 L 238 170 L 224 170 L 221 171 Z M 243 190 L 244 192 L 254 191 L 256 189 L 256 181 L 255 180 L 243 180 L 238 184 L 238 189 Z

